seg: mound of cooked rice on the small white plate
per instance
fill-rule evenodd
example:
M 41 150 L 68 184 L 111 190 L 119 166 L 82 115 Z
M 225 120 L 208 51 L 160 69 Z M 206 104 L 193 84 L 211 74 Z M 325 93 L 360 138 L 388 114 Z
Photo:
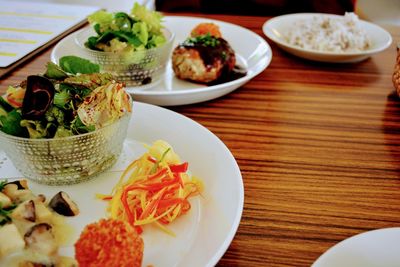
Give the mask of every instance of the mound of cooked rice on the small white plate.
M 315 15 L 296 21 L 284 36 L 290 45 L 322 52 L 361 52 L 372 46 L 358 16 L 347 12 L 343 17 Z

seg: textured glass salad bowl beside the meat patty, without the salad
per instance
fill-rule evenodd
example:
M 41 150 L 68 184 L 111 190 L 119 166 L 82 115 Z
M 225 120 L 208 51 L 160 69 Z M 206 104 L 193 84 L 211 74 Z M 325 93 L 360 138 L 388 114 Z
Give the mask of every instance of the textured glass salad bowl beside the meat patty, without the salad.
M 124 52 L 103 52 L 89 49 L 85 42 L 96 33 L 92 28 L 79 31 L 75 36 L 76 44 L 83 50 L 87 59 L 101 66 L 103 72 L 108 72 L 128 86 L 142 86 L 160 81 L 166 71 L 167 62 L 170 58 L 174 34 L 163 29 L 166 43 L 160 47 Z

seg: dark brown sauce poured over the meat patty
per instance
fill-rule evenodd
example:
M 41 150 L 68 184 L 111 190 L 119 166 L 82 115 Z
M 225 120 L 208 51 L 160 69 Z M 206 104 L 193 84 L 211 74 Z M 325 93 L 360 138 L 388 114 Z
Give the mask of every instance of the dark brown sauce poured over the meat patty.
M 239 79 L 246 76 L 247 71 L 235 64 L 235 52 L 229 43 L 223 38 L 216 38 L 215 45 L 205 45 L 201 42 L 184 42 L 180 46 L 187 49 L 195 49 L 199 52 L 205 67 L 212 67 L 216 60 L 221 60 L 223 68 L 218 79 L 207 83 L 217 85 Z

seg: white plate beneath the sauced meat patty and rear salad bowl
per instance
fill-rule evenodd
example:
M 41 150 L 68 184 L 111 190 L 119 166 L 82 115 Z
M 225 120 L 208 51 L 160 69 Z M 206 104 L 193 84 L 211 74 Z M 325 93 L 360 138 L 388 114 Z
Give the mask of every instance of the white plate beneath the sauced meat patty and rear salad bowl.
M 165 78 L 159 84 L 155 84 L 151 88 L 128 88 L 135 100 L 162 106 L 211 100 L 239 88 L 262 72 L 271 62 L 271 48 L 259 35 L 238 25 L 206 18 L 165 17 L 165 27 L 175 33 L 173 47 L 183 42 L 189 36 L 190 31 L 201 22 L 214 22 L 219 25 L 222 36 L 236 52 L 238 64 L 247 68 L 247 75 L 223 84 L 205 86 L 177 79 L 172 71 L 171 62 L 169 62 Z M 75 44 L 74 34 L 76 33 L 67 36 L 54 47 L 51 53 L 53 62 L 58 63 L 58 59 L 65 55 L 85 57 Z

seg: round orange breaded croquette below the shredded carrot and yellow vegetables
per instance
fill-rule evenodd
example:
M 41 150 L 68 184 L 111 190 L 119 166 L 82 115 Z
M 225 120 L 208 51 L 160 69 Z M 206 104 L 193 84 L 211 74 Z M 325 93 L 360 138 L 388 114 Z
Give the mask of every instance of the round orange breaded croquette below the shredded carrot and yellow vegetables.
M 89 224 L 75 243 L 75 257 L 80 267 L 140 267 L 143 240 L 128 223 L 101 219 Z

